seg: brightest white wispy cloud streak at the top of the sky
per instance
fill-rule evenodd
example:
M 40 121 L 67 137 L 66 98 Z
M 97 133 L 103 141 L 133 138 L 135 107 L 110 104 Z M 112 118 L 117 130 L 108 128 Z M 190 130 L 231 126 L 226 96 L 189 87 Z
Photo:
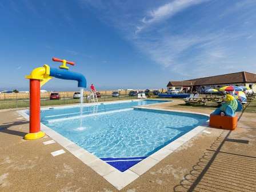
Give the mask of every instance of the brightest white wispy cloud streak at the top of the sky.
M 153 23 L 162 21 L 163 19 L 171 18 L 187 7 L 197 5 L 207 0 L 175 0 L 165 5 L 159 6 L 154 10 L 148 11 L 148 14 L 141 19 L 142 25 L 137 26 L 135 33 L 139 33 Z

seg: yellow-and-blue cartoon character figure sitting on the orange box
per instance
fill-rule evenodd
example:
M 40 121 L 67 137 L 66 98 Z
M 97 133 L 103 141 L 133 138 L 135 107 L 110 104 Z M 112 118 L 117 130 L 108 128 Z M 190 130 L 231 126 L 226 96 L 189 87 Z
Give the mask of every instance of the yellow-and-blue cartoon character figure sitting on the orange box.
M 235 111 L 241 110 L 241 103 L 237 101 L 232 95 L 226 94 L 224 97 L 226 101 L 221 107 L 213 111 L 213 115 L 226 115 L 229 117 L 235 116 Z M 224 114 L 223 114 L 224 113 Z

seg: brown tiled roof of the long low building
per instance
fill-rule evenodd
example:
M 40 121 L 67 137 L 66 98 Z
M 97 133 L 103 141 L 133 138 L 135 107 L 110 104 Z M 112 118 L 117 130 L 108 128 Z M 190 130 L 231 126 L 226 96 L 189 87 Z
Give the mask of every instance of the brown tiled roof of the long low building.
M 238 73 L 229 73 L 224 75 L 215 75 L 211 77 L 189 79 L 186 81 L 170 81 L 167 87 L 190 86 L 191 83 L 194 86 L 199 86 L 199 85 L 218 85 L 218 84 L 250 83 L 250 82 L 256 82 L 256 74 L 242 71 Z

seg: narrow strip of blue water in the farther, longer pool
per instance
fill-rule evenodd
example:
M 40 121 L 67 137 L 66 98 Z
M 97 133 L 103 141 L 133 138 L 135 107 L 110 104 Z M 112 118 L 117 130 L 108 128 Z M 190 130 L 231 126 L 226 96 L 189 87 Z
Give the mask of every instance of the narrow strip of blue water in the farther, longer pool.
M 162 102 L 166 102 L 166 101 L 145 99 L 145 100 L 137 100 L 137 101 L 98 103 L 97 105 L 94 105 L 94 106 L 83 105 L 82 115 L 113 111 L 113 110 L 119 110 L 119 109 L 127 109 L 130 107 L 162 103 Z M 55 108 L 49 108 L 47 110 L 42 110 L 41 120 L 45 121 L 50 119 L 75 117 L 78 115 L 81 115 L 80 106 L 61 107 L 61 108 L 55 107 Z

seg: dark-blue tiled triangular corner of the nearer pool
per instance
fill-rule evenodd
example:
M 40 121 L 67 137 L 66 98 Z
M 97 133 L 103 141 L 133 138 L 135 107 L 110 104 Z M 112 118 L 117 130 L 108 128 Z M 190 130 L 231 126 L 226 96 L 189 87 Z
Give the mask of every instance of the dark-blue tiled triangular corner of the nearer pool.
M 147 158 L 147 156 L 123 157 L 123 158 L 101 158 L 101 159 L 106 163 L 108 163 L 109 165 L 115 167 L 115 169 L 118 169 L 119 171 L 123 172 L 145 158 Z

